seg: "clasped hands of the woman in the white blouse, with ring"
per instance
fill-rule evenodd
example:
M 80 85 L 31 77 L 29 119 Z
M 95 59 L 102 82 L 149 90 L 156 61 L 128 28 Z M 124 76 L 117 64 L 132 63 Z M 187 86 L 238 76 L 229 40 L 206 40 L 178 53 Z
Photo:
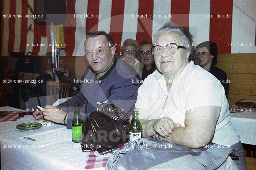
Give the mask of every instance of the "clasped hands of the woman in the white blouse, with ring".
M 173 120 L 168 117 L 156 119 L 152 124 L 154 131 L 162 137 L 169 137 L 172 133 L 172 130 L 180 126 L 180 124 L 174 123 Z

